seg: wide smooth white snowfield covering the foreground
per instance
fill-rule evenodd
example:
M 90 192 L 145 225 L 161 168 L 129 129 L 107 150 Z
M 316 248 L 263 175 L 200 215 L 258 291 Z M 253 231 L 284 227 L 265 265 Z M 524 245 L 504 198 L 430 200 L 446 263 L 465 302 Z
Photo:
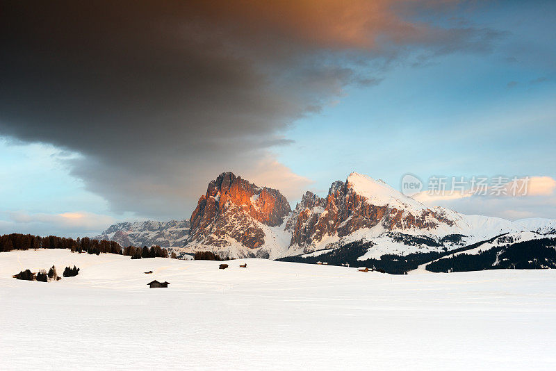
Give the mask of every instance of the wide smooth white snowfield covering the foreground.
M 556 270 L 227 263 L 0 253 L 0 369 L 556 370 Z M 51 265 L 81 271 L 11 278 Z

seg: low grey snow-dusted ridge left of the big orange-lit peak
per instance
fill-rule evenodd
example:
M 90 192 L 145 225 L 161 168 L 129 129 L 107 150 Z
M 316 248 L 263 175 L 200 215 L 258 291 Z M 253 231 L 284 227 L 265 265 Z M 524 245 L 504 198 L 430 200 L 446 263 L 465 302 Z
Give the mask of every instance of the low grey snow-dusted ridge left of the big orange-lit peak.
M 188 220 L 170 222 L 123 222 L 113 224 L 95 238 L 112 240 L 122 246 L 152 246 L 165 248 L 183 247 L 189 234 Z

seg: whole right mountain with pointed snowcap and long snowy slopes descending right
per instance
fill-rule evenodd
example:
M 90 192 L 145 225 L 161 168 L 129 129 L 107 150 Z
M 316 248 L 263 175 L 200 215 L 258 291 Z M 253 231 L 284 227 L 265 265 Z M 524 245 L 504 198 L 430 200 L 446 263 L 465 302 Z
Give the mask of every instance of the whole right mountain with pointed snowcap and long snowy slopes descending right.
M 292 233 L 291 255 L 373 241 L 369 254 L 379 257 L 452 249 L 528 227 L 525 222 L 429 208 L 384 181 L 352 173 L 345 182 L 332 183 L 325 198 L 306 192 L 286 230 Z M 416 243 L 418 238 L 429 243 Z

